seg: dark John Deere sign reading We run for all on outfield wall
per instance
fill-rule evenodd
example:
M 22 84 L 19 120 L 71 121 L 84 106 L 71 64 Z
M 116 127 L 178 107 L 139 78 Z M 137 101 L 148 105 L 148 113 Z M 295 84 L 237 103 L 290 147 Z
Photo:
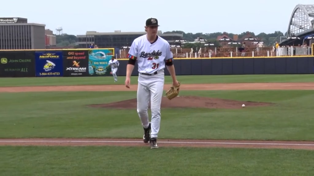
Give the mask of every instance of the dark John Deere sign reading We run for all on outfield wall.
M 0 77 L 34 77 L 35 54 L 31 52 L 0 53 Z

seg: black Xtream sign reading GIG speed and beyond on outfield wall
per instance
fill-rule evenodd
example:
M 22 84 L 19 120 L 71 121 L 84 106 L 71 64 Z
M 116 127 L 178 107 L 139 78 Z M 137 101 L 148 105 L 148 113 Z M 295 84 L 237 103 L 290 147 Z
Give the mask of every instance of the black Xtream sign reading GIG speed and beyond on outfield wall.
M 88 50 L 63 51 L 64 76 L 88 76 Z

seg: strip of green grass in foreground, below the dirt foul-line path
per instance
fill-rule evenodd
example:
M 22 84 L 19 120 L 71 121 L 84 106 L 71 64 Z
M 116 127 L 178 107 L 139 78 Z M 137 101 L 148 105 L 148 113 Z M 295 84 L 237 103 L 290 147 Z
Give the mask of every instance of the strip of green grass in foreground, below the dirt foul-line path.
M 0 147 L 0 175 L 310 176 L 313 155 L 279 149 Z

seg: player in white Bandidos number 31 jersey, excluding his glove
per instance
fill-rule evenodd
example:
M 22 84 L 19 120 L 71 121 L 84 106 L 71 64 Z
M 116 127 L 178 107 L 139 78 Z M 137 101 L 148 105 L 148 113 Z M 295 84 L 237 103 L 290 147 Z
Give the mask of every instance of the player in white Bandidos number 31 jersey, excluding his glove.
M 169 43 L 157 35 L 158 20 L 149 18 L 146 20 L 145 31 L 147 34 L 136 38 L 128 53 L 129 62 L 125 86 L 130 88 L 130 76 L 138 61 L 138 90 L 137 112 L 144 128 L 144 143 L 150 143 L 150 148 L 158 148 L 157 137 L 160 128 L 160 104 L 165 82 L 165 66 L 173 81 L 173 85 L 179 85 L 176 80 L 176 72 L 173 65 L 173 56 Z M 151 122 L 148 117 L 148 105 L 150 101 Z M 151 134 L 149 134 L 151 131 Z

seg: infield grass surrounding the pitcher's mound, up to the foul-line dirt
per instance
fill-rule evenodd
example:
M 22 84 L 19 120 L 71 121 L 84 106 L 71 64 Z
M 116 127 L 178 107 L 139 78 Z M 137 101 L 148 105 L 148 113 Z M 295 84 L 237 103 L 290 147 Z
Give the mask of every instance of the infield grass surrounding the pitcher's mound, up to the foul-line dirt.
M 160 138 L 314 140 L 314 91 L 181 91 L 276 103 L 269 107 L 162 109 Z M 0 138 L 141 138 L 136 109 L 87 107 L 136 98 L 136 92 L 0 93 Z M 241 106 L 241 105 L 239 105 Z

